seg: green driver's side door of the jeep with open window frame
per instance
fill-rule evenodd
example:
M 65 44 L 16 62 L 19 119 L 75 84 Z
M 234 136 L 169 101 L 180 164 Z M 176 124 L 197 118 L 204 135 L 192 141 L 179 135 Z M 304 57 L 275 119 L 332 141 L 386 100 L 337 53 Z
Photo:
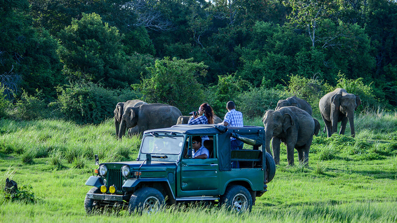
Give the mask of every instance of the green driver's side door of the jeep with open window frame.
M 192 159 L 191 154 L 191 136 L 186 141 L 184 156 L 180 162 L 180 188 L 181 196 L 201 196 L 217 194 L 219 192 L 218 183 L 218 159 L 216 158 L 216 148 L 214 148 L 215 136 L 208 136 L 202 144 L 209 150 L 210 156 L 207 159 Z M 203 138 L 204 139 L 204 138 Z M 206 190 L 203 194 L 202 190 Z M 197 192 L 194 192 L 197 191 Z

